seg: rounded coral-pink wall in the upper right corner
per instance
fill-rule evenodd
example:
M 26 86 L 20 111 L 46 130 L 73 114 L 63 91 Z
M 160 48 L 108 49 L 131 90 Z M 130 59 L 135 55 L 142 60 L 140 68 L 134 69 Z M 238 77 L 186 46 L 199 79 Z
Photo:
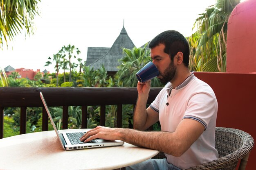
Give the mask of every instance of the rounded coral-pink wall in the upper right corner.
M 256 73 L 256 0 L 239 3 L 229 17 L 226 71 Z

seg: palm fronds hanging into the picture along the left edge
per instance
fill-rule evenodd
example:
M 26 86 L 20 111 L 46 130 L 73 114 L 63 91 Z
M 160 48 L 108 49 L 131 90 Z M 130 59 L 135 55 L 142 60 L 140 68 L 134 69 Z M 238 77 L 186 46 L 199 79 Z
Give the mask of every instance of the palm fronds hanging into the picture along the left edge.
M 0 49 L 4 42 L 13 40 L 25 28 L 27 35 L 33 34 L 34 17 L 39 15 L 38 3 L 40 0 L 0 0 Z M 8 79 L 0 68 L 2 86 L 8 86 Z

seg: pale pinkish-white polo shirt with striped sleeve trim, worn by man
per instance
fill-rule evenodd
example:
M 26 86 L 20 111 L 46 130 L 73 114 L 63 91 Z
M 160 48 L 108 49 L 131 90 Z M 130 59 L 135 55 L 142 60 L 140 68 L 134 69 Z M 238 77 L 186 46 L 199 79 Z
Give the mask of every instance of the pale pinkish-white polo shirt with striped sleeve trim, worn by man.
M 211 87 L 192 74 L 172 89 L 171 83 L 159 92 L 150 107 L 159 113 L 162 131 L 174 132 L 182 119 L 202 123 L 205 131 L 181 157 L 165 154 L 167 161 L 185 169 L 218 158 L 215 149 L 215 127 L 218 111 Z

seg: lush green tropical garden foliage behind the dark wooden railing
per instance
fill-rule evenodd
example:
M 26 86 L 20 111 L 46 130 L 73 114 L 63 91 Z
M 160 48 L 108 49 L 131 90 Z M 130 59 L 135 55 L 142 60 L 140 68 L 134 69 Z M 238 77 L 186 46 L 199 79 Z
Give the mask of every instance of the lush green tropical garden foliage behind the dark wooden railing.
M 40 80 L 42 76 L 41 73 L 38 73 L 35 76 L 35 80 L 31 81 L 26 78 L 16 78 L 18 74 L 13 73 L 12 76 L 8 78 L 10 86 L 17 87 L 56 87 L 57 76 L 58 83 L 61 84 L 61 87 L 117 87 L 117 86 L 127 86 L 127 87 L 135 87 L 137 84 L 137 79 L 135 73 L 142 68 L 148 61 L 150 61 L 149 51 L 146 48 L 133 48 L 132 50 L 124 48 L 124 58 L 121 61 L 126 64 L 120 65 L 122 68 L 114 77 L 108 76 L 104 66 L 101 68 L 94 70 L 88 66 L 84 66 L 80 72 L 76 72 L 72 70 L 72 81 L 64 82 L 65 77 L 69 77 L 69 73 L 62 74 L 45 74 L 46 77 L 52 77 L 51 81 L 44 83 Z M 49 57 L 50 58 L 50 57 Z M 51 59 L 51 58 L 50 58 Z M 132 59 L 135 59 L 135 62 L 132 62 Z M 61 54 L 54 54 L 54 58 L 52 60 L 56 65 L 61 65 L 63 58 Z M 82 63 L 82 61 L 80 61 Z M 47 61 L 47 63 L 52 63 L 51 61 Z M 133 68 L 129 68 L 128 66 Z M 78 65 L 77 65 L 78 66 Z M 83 71 L 82 71 L 83 70 Z M 132 72 L 126 73 L 127 70 L 132 70 Z M 130 75 L 133 74 L 133 75 Z M 134 82 L 128 81 L 128 78 L 133 78 Z M 44 79 L 43 78 L 43 79 Z M 120 78 L 124 78 L 127 80 L 125 83 L 120 83 Z M 136 81 L 136 82 L 135 82 Z M 118 84 L 119 82 L 119 84 Z M 136 84 L 135 84 L 136 83 Z M 161 85 L 161 84 L 160 84 Z M 124 105 L 122 108 L 122 127 L 132 127 L 132 114 L 133 114 L 133 105 Z M 50 107 L 50 111 L 52 113 L 52 117 L 54 118 L 54 122 L 58 129 L 62 128 L 62 108 L 61 107 Z M 19 108 L 8 108 L 4 110 L 4 117 L 9 121 L 10 127 L 13 127 L 13 135 L 18 133 L 19 131 L 19 116 L 20 116 Z M 68 127 L 70 129 L 73 128 L 81 128 L 81 107 L 80 106 L 70 106 L 68 109 Z M 89 106 L 88 107 L 88 117 L 87 117 L 88 128 L 93 128 L 99 125 L 100 120 L 100 107 L 99 106 Z M 42 110 L 38 108 L 27 108 L 27 133 L 41 131 L 42 129 Z M 116 127 L 117 126 L 117 106 L 110 105 L 106 106 L 106 126 Z M 5 126 L 9 126 L 5 124 Z M 49 124 L 49 127 L 51 125 Z M 159 128 L 159 126 L 158 126 Z M 8 134 L 7 134 L 8 136 Z

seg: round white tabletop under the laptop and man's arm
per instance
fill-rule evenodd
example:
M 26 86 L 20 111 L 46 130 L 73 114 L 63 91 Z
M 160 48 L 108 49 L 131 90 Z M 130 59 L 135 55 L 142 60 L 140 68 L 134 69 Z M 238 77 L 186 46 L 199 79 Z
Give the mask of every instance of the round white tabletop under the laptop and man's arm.
M 111 170 L 145 161 L 157 153 L 128 143 L 65 151 L 54 131 L 44 131 L 0 139 L 0 169 Z

